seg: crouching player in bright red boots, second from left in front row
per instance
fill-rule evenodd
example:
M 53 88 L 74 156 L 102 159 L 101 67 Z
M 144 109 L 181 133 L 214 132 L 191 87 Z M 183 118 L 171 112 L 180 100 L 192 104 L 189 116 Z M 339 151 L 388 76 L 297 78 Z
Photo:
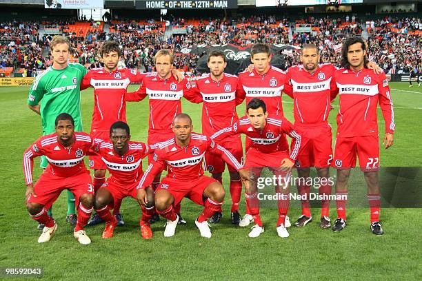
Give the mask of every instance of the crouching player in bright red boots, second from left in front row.
M 95 193 L 94 209 L 96 214 L 106 221 L 103 238 L 113 236 L 117 219 L 112 216 L 108 207 L 114 207 L 114 201 L 132 196 L 137 199 L 137 185 L 143 176 L 142 158 L 150 153 L 144 143 L 130 141 L 129 126 L 123 121 L 117 121 L 110 127 L 110 140 L 97 144 L 96 152 L 111 176 Z M 148 201 L 141 205 L 142 217 L 139 221 L 141 235 L 144 239 L 152 238 L 150 218 L 154 214 L 154 191 L 151 187 L 145 187 Z

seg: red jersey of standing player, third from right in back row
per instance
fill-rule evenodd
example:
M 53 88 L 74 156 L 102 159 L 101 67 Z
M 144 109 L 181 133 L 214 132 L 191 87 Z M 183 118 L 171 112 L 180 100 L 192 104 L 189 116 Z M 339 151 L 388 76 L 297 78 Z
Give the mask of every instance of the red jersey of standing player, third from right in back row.
M 268 113 L 283 116 L 281 93 L 286 80 L 285 72 L 274 66 L 270 66 L 265 74 L 259 74 L 256 70 L 241 72 L 237 86 L 240 101 L 246 98 L 248 105 L 252 98 L 261 98 Z

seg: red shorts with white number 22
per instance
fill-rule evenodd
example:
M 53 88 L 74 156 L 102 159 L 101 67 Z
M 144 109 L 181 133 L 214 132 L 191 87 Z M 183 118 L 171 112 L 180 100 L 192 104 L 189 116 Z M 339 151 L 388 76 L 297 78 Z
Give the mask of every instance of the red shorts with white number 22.
M 333 167 L 348 169 L 355 167 L 356 154 L 362 171 L 377 171 L 379 169 L 379 136 L 337 137 L 334 150 Z

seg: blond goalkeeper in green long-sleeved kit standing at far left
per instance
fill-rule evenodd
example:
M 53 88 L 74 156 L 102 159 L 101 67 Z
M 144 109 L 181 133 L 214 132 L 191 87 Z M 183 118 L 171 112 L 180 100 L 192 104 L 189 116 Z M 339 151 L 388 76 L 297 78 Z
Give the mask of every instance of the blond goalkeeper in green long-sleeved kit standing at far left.
M 62 112 L 70 114 L 75 121 L 75 130 L 82 132 L 80 83 L 87 70 L 79 63 L 68 63 L 70 43 L 66 37 L 55 36 L 50 42 L 50 50 L 53 64 L 37 76 L 30 87 L 28 107 L 41 115 L 43 135 L 54 132 L 54 120 Z M 41 168 L 46 169 L 47 165 L 46 158 L 41 157 Z M 66 220 L 72 225 L 77 222 L 74 207 L 74 196 L 68 191 Z M 51 210 L 49 215 L 52 216 Z

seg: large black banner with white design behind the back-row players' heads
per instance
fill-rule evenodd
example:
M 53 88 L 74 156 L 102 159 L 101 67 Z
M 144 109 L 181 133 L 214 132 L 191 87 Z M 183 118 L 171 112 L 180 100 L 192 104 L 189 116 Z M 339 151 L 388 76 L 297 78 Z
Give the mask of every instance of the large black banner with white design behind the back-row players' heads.
M 200 56 L 197 61 L 197 71 L 199 73 L 208 73 L 210 72 L 207 65 L 208 54 L 213 50 L 220 50 L 225 54 L 225 59 L 227 61 L 227 67 L 225 67 L 224 71 L 228 74 L 239 74 L 239 72 L 245 70 L 245 68 L 251 64 L 251 48 L 252 45 L 247 45 L 246 47 L 232 44 L 197 45 L 194 48 L 182 49 L 181 52 L 183 54 L 195 54 Z M 294 52 L 299 52 L 299 50 L 300 48 L 291 45 L 270 45 L 270 52 L 272 54 L 271 65 L 285 70 L 285 56 L 290 56 L 290 54 L 293 55 Z

